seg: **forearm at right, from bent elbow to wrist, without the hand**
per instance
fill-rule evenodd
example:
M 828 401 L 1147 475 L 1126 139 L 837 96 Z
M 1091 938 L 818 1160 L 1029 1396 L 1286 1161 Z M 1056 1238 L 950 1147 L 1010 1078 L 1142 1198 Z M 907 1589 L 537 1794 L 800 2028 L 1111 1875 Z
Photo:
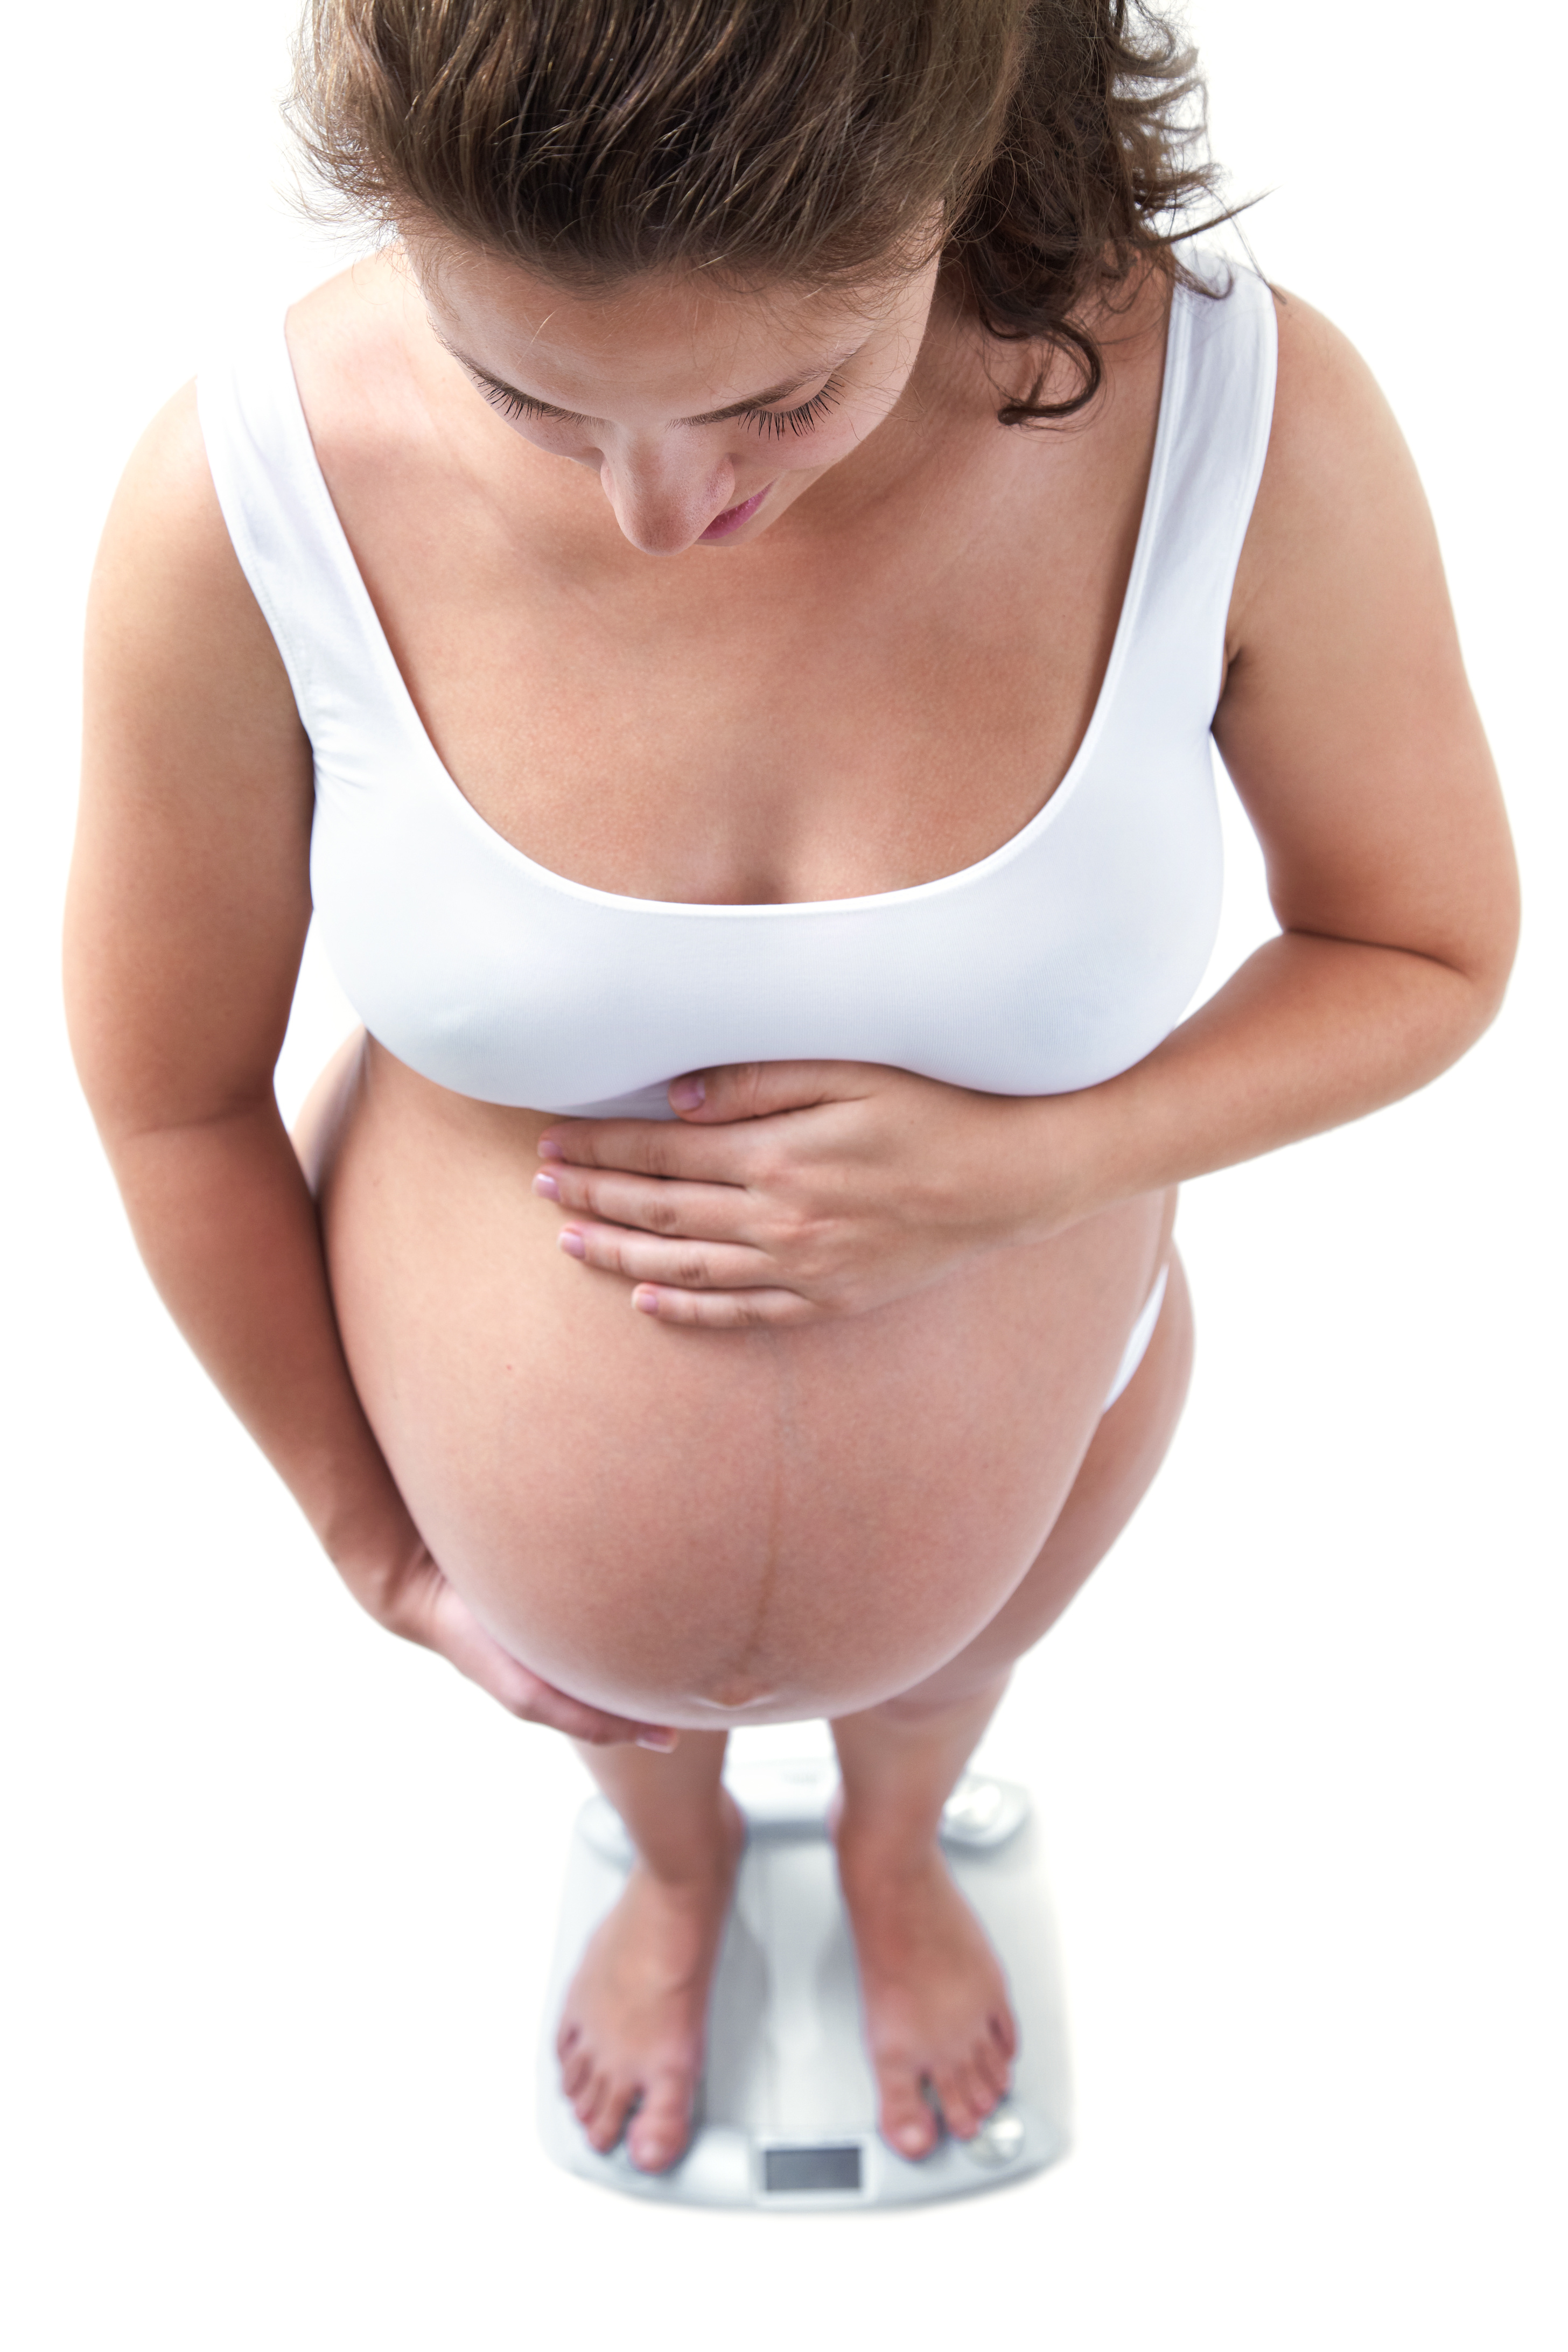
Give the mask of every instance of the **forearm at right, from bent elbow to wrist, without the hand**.
M 1500 978 L 1401 948 L 1272 938 L 1147 1061 L 1051 1101 L 1079 1127 L 1067 1188 L 1081 1200 L 1065 1223 L 1413 1094 L 1474 1044 L 1500 997 Z

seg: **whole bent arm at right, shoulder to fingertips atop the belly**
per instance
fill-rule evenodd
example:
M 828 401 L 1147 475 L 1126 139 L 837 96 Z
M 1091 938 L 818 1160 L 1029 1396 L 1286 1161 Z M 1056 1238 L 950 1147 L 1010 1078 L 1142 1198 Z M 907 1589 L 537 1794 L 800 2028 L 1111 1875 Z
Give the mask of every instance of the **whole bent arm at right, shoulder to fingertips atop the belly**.
M 679 1127 L 557 1124 L 567 1247 L 646 1312 L 858 1312 L 959 1258 L 1232 1167 L 1427 1084 L 1488 1025 L 1519 894 L 1427 501 L 1368 369 L 1279 310 L 1279 402 L 1215 736 L 1281 936 L 1147 1061 L 1004 1101 L 856 1063 L 672 1089 Z

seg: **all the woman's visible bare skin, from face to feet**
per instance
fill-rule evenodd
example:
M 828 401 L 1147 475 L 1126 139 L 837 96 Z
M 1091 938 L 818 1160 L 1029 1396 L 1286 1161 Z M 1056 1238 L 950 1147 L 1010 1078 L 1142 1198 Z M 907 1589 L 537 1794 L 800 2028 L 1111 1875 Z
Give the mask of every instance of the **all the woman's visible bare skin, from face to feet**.
M 1051 435 L 997 428 L 999 360 L 936 270 L 590 299 L 425 235 L 289 336 L 480 816 L 599 889 L 790 901 L 973 863 L 1065 774 L 1164 315 L 1150 275 L 1105 397 Z M 762 421 L 785 383 L 773 412 L 830 397 Z M 1429 517 L 1366 369 L 1293 301 L 1215 734 L 1281 936 L 1124 1077 L 1001 1101 L 773 1063 L 689 1073 L 672 1124 L 559 1122 L 355 1040 L 294 1148 L 270 1073 L 308 746 L 188 397 L 129 468 L 92 607 L 82 1080 L 165 1298 L 355 1595 L 576 1736 L 625 1816 L 639 1863 L 559 2049 L 637 2164 L 689 2131 L 733 1719 L 832 1719 L 882 2129 L 931 2147 L 931 2098 L 978 2129 L 1013 2025 L 936 1823 L 1180 1414 L 1173 1188 L 1425 1084 L 1500 1002 L 1514 870 Z

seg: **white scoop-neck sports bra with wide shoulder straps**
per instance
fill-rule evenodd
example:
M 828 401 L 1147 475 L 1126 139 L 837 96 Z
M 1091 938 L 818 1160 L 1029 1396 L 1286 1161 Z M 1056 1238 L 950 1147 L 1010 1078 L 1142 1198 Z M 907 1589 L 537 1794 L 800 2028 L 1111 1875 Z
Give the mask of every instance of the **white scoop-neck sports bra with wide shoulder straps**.
M 1199 261 L 1213 270 L 1218 263 Z M 1178 289 L 1154 463 L 1088 731 L 978 866 L 867 898 L 684 906 L 512 849 L 442 767 L 310 445 L 280 327 L 202 372 L 212 477 L 315 753 L 310 894 L 367 1030 L 489 1103 L 670 1117 L 726 1061 L 1063 1094 L 1143 1061 L 1220 915 L 1208 724 L 1274 409 L 1274 306 Z

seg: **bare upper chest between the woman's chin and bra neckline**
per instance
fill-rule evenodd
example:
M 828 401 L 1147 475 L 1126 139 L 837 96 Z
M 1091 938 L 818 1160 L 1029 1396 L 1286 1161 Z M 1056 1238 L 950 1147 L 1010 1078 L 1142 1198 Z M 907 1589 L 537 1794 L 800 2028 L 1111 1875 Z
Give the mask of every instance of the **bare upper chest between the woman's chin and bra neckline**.
M 837 541 L 788 515 L 670 564 L 583 555 L 571 529 L 520 543 L 477 485 L 418 470 L 371 499 L 346 468 L 334 496 L 418 717 L 498 835 L 635 898 L 849 898 L 978 863 L 1065 776 L 1152 407 L 1098 445 L 997 449 Z

